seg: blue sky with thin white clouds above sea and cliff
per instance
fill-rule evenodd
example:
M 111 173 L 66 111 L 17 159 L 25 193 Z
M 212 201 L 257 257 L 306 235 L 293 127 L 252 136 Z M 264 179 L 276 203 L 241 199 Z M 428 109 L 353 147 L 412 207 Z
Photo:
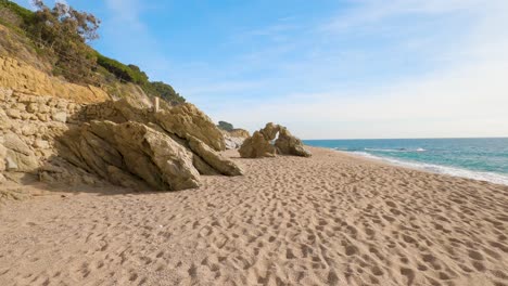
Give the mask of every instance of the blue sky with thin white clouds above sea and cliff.
M 216 121 L 304 139 L 508 136 L 506 0 L 67 2 L 102 20 L 94 48 Z

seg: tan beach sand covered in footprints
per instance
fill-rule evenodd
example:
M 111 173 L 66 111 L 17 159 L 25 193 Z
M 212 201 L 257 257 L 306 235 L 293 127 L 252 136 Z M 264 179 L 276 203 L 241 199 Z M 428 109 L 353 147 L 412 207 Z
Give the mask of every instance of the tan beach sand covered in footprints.
M 0 285 L 508 285 L 508 186 L 312 151 L 8 202 Z

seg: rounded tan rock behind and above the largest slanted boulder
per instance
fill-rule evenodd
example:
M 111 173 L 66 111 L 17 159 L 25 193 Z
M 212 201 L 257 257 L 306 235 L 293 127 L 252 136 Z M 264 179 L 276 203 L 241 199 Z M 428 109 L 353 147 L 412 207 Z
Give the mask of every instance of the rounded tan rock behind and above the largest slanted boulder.
M 226 143 L 220 130 L 200 109 L 190 103 L 163 109 L 155 115 L 160 126 L 169 133 L 190 140 L 194 136 L 215 151 L 224 151 Z

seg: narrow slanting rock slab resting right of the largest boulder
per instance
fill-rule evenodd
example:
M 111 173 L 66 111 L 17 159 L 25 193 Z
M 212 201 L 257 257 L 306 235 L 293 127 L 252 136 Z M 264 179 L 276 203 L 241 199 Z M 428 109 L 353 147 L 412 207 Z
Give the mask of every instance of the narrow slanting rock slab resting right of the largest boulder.
M 240 169 L 240 167 L 238 167 L 233 161 L 220 156 L 208 145 L 204 144 L 203 141 L 196 138 L 190 138 L 189 147 L 206 164 L 219 171 L 221 174 L 241 176 L 243 173 L 242 169 Z

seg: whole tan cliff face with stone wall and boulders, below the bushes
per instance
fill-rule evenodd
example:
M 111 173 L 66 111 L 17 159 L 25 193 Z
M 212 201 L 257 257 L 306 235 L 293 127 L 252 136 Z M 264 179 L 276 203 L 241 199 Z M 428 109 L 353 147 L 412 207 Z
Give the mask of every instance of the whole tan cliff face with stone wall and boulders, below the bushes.
M 0 25 L 0 184 L 170 191 L 196 187 L 203 174 L 242 173 L 218 153 L 223 133 L 192 104 L 154 108 L 141 86 L 115 79 L 71 83 L 51 76 L 52 61 L 33 44 Z

